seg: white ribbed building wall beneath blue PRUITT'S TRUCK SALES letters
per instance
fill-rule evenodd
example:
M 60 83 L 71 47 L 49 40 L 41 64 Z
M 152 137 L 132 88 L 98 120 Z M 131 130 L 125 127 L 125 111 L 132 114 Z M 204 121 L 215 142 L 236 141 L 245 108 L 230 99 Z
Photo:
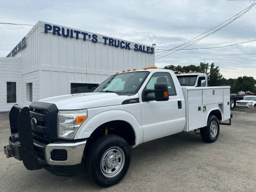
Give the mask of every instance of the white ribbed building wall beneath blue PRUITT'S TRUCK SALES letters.
M 116 71 L 155 63 L 154 54 L 108 46 L 100 40 L 83 41 L 81 36 L 66 38 L 44 29 L 44 22 L 38 22 L 39 99 L 70 94 L 70 83 L 99 84 Z

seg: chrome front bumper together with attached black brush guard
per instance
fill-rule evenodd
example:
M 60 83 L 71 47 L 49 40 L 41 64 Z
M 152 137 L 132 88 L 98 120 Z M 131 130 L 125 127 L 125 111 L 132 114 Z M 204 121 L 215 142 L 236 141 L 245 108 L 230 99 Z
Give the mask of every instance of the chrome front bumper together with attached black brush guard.
M 9 145 L 4 146 L 7 158 L 22 161 L 28 170 L 45 168 L 54 172 L 58 167 L 59 173 L 66 170 L 62 175 L 68 175 L 68 167 L 81 164 L 86 140 L 40 142 L 33 138 L 28 107 L 13 106 L 9 116 L 11 137 Z

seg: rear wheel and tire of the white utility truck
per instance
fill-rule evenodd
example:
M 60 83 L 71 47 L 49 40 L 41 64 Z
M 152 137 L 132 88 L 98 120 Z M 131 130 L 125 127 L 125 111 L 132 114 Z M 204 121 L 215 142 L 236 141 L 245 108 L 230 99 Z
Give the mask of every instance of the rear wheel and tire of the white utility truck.
M 200 129 L 200 134 L 205 142 L 214 142 L 218 139 L 220 132 L 219 119 L 215 115 L 208 118 L 207 126 Z

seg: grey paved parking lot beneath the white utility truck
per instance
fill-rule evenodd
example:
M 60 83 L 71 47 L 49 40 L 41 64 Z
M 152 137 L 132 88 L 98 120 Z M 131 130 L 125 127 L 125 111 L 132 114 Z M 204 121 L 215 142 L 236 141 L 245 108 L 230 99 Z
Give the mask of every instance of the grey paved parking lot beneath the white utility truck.
M 7 159 L 9 120 L 0 114 L 0 191 L 256 191 L 255 112 L 232 111 L 233 124 L 221 125 L 214 143 L 182 132 L 134 148 L 126 177 L 109 188 L 94 185 L 83 167 L 75 177 L 58 177 Z

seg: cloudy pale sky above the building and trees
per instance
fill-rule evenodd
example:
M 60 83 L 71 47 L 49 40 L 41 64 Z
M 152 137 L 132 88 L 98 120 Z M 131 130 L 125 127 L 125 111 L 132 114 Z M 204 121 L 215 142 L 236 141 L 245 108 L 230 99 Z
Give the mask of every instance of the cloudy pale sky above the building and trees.
M 178 46 L 232 17 L 251 1 L 172 0 L 172 1 L 2 1 L 0 22 L 34 25 L 55 23 L 156 49 Z M 217 33 L 187 48 L 212 47 L 256 39 L 256 6 Z M 32 26 L 0 24 L 0 57 L 6 55 Z M 166 65 L 198 65 L 214 62 L 226 78 L 256 78 L 256 42 L 212 50 L 181 50 L 156 60 Z

